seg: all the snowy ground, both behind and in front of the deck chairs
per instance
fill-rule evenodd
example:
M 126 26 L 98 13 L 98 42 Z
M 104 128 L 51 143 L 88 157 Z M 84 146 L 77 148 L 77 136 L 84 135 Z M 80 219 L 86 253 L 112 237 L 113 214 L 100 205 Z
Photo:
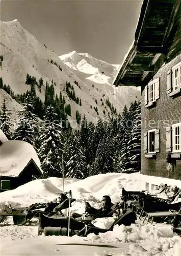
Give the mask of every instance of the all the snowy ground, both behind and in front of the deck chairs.
M 76 201 L 71 212 L 84 212 L 84 199 L 93 207 L 100 206 L 101 197 L 110 195 L 112 201 L 120 199 L 121 189 L 139 190 L 140 174 L 100 174 L 85 180 L 65 179 L 65 190 L 72 190 Z M 62 179 L 48 178 L 24 184 L 14 190 L 1 193 L 1 208 L 30 205 L 54 199 L 63 189 Z M 105 227 L 111 218 L 96 219 L 95 225 Z M 88 237 L 37 237 L 37 225 L 12 225 L 9 218 L 1 227 L 1 255 L 134 255 L 180 256 L 181 238 L 167 224 L 153 222 L 125 227 L 115 226 L 113 231 Z

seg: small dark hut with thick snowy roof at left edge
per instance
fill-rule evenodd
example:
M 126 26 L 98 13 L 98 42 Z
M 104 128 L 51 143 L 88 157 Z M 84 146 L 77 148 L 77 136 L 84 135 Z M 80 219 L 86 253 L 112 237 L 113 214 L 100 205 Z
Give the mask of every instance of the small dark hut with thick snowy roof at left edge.
M 31 144 L 25 141 L 8 140 L 2 130 L 0 141 L 1 192 L 42 177 L 41 163 Z

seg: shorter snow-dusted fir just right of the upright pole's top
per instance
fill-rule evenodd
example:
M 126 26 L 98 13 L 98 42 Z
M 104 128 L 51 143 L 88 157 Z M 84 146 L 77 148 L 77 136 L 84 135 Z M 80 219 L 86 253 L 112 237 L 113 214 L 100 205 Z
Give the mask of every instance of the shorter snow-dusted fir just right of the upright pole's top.
M 66 164 L 67 177 L 84 179 L 88 176 L 86 157 L 81 148 L 79 138 L 74 137 L 72 144 L 69 148 L 70 159 Z

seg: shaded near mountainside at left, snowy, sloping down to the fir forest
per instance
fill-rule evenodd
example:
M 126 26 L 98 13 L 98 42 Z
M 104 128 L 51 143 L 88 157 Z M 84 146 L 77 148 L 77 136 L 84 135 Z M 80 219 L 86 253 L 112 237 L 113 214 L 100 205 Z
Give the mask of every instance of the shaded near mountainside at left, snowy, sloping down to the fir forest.
M 89 90 L 85 84 L 72 71 L 64 65 L 60 58 L 45 46 L 40 45 L 36 38 L 27 30 L 23 29 L 18 20 L 13 22 L 1 22 L 1 55 L 3 55 L 1 76 L 3 82 L 9 84 L 14 93 L 24 93 L 30 90 L 30 86 L 25 84 L 27 73 L 35 76 L 37 80 L 43 78 L 44 87 L 41 93 L 36 88 L 36 94 L 44 100 L 45 83 L 51 83 L 53 79 L 57 83 L 55 93 L 63 92 L 66 103 L 71 104 L 72 117 L 75 117 L 76 110 L 79 110 L 81 116 L 86 114 L 88 120 L 94 120 L 97 116 L 90 105 L 95 106 L 95 101 L 89 95 Z M 62 71 L 50 63 L 50 60 L 56 61 L 62 68 Z M 49 61 L 48 61 L 49 60 Z M 81 98 L 82 106 L 70 100 L 65 91 L 65 82 L 70 81 L 74 86 L 76 97 Z M 79 82 L 81 89 L 74 84 Z M 102 116 L 102 110 L 99 109 Z

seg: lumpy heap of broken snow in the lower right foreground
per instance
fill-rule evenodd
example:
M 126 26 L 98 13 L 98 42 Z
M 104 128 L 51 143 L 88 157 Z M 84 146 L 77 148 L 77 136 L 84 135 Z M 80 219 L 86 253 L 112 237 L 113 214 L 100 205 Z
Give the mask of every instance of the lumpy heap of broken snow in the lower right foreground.
M 124 255 L 181 255 L 181 238 L 173 233 L 171 226 L 165 224 L 142 225 L 137 224 L 131 226 L 116 225 L 113 231 L 106 233 L 89 234 L 86 241 L 99 243 L 128 243 L 129 248 L 125 250 Z M 176 252 L 176 254 L 175 254 Z M 111 254 L 119 255 L 119 254 Z

